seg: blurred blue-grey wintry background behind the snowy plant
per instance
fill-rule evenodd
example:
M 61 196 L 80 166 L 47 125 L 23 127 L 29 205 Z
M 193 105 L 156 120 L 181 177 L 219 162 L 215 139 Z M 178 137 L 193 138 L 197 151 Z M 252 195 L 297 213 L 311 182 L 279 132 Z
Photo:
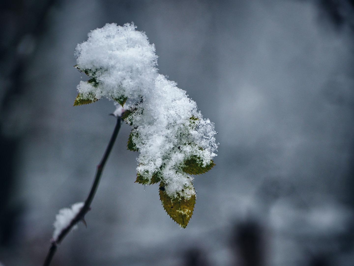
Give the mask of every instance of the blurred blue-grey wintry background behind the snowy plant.
M 123 124 L 87 228 L 56 265 L 354 265 L 354 1 L 2 0 L 0 265 L 41 265 L 58 210 L 86 198 L 115 120 L 73 107 L 74 49 L 134 22 L 160 73 L 215 122 L 186 229 L 135 181 Z

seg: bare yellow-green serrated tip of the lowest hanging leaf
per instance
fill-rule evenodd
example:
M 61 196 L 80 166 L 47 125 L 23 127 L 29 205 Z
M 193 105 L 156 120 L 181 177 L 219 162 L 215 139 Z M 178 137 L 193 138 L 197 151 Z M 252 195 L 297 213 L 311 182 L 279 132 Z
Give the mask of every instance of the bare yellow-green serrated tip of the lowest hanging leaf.
M 171 198 L 165 192 L 164 184 L 160 183 L 160 200 L 164 206 L 165 211 L 172 218 L 173 221 L 178 223 L 183 228 L 187 227 L 187 224 L 192 217 L 195 195 L 191 196 L 190 199 L 185 199 L 184 197 Z

